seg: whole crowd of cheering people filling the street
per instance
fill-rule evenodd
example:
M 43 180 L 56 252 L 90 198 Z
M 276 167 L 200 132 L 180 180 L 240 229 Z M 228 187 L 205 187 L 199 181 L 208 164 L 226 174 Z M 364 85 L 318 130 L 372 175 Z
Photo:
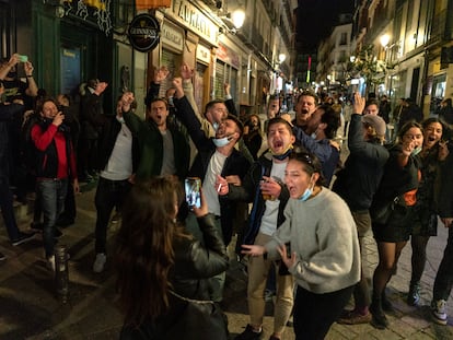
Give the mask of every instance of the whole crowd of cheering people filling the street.
M 342 104 L 307 90 L 291 102 L 294 117 L 271 96 L 262 124 L 257 114 L 237 114 L 228 83 L 224 99 L 201 112 L 194 71 L 183 63 L 165 97 L 159 92 L 170 72 L 155 69 L 140 117 L 131 92 L 105 113 L 108 84 L 98 80 L 86 83 L 74 109 L 66 94 L 54 98 L 38 90 L 31 61 L 23 63 L 26 82 L 19 80 L 19 60 L 13 55 L 0 66 L 0 204 L 8 235 L 15 246 L 35 237 L 14 218 L 10 180 L 21 174 L 9 169 L 16 164 L 33 177 L 32 226 L 43 235 L 50 271 L 57 226 L 76 219 L 79 180 L 95 180 L 92 270 L 103 272 L 107 261 L 117 268 L 121 339 L 228 339 L 220 303 L 234 234 L 249 313 L 236 340 L 263 337 L 266 291 L 276 295 L 270 340 L 282 339 L 291 316 L 297 339 L 324 339 L 336 321 L 386 328 L 393 306 L 385 289 L 409 239 L 407 303 L 419 304 L 438 215 L 445 227 L 453 222 L 451 101 L 439 117 L 423 119 L 408 99 L 392 112 L 385 96 L 365 101 L 356 93 Z M 184 199 L 187 177 L 200 178 L 200 207 Z M 14 194 L 23 199 L 23 189 Z M 114 212 L 123 222 L 111 255 Z M 371 289 L 361 261 L 370 232 L 379 250 Z M 442 325 L 453 282 L 452 233 L 431 305 Z M 351 297 L 353 309 L 345 309 Z

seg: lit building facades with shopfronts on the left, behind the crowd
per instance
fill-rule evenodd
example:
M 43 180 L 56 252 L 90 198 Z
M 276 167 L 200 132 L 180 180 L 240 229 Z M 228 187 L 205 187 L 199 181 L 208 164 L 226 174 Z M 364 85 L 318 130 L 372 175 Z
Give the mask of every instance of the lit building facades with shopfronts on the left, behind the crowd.
M 125 90 L 135 92 L 138 112 L 144 112 L 146 91 L 160 66 L 171 70 L 171 78 L 178 75 L 182 62 L 194 69 L 200 108 L 223 97 L 229 82 L 237 106 L 259 110 L 264 93 L 292 78 L 295 0 L 172 0 L 169 7 L 140 10 L 135 2 L 0 0 L 1 57 L 27 55 L 38 86 L 53 95 L 76 94 L 92 78 L 108 82 L 104 105 L 112 113 Z M 245 13 L 242 27 L 233 23 L 237 10 Z M 160 24 L 160 42 L 148 52 L 133 49 L 128 37 L 130 22 L 140 13 Z M 287 58 L 277 65 L 279 55 Z M 171 80 L 161 85 L 162 93 L 169 86 Z

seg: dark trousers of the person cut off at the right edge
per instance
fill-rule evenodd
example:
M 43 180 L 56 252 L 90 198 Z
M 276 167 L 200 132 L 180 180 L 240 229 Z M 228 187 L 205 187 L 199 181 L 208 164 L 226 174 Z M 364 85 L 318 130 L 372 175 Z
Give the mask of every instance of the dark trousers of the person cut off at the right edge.
M 446 301 L 453 286 L 453 226 L 449 227 L 449 241 L 443 251 L 442 261 L 435 274 L 432 300 Z

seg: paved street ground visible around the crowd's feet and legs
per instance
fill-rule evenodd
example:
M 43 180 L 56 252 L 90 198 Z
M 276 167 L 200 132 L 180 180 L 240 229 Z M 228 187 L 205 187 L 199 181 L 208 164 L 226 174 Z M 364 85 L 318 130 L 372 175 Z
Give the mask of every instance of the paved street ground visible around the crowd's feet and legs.
M 8 256 L 0 262 L 0 339 L 117 339 L 123 317 L 115 295 L 115 271 L 107 260 L 106 271 L 94 274 L 94 191 L 77 197 L 77 223 L 62 228 L 60 244 L 68 245 L 70 297 L 61 304 L 55 295 L 51 273 L 46 268 L 40 236 L 13 247 L 10 245 L 0 219 L 0 251 Z M 21 228 L 30 225 L 30 215 Z M 108 232 L 109 246 L 117 224 Z M 398 272 L 388 284 L 388 295 L 396 312 L 388 315 L 390 328 L 378 330 L 371 325 L 344 326 L 335 324 L 326 339 L 453 339 L 453 298 L 448 302 L 449 326 L 438 326 L 430 320 L 429 303 L 435 270 L 442 258 L 446 230 L 439 226 L 439 236 L 428 245 L 428 263 L 422 278 L 422 306 L 410 307 L 405 303 L 410 278 L 410 245 L 403 251 Z M 378 262 L 372 237 L 367 238 L 367 263 L 370 277 Z M 246 275 L 237 262 L 232 261 L 226 275 L 224 310 L 229 317 L 231 339 L 242 332 L 248 321 L 246 306 Z M 272 305 L 267 304 L 265 337 L 272 331 Z M 292 328 L 284 338 L 293 340 Z M 183 339 L 182 339 L 183 340 Z M 214 340 L 214 339 L 213 339 Z

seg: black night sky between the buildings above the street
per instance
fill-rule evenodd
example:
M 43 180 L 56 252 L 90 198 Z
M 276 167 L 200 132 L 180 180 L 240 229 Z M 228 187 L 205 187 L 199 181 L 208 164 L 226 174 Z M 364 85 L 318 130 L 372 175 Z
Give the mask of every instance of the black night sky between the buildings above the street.
M 337 25 L 339 13 L 352 13 L 353 0 L 299 0 L 297 40 L 313 50 Z

